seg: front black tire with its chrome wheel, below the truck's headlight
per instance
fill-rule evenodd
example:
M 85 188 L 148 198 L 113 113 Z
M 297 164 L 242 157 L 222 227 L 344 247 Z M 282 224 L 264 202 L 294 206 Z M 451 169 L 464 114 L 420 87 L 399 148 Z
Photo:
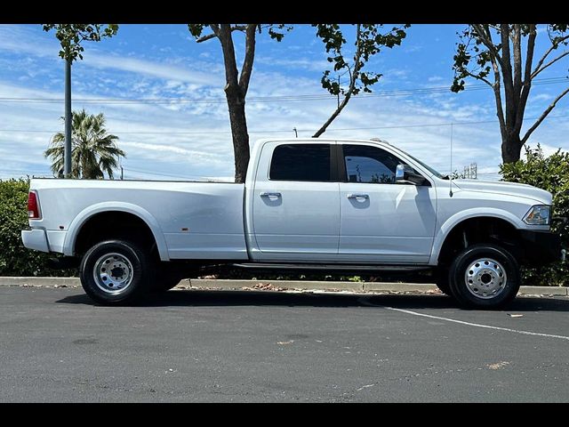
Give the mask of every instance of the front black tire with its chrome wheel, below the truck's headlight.
M 448 278 L 453 297 L 475 309 L 502 307 L 516 297 L 520 286 L 516 258 L 490 244 L 469 246 L 457 254 Z

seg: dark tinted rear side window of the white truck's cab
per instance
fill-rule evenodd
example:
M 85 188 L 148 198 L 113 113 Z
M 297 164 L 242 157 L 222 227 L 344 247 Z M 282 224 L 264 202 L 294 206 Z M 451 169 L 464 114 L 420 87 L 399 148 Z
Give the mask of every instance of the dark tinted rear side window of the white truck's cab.
M 279 145 L 268 176 L 276 181 L 330 181 L 330 145 Z

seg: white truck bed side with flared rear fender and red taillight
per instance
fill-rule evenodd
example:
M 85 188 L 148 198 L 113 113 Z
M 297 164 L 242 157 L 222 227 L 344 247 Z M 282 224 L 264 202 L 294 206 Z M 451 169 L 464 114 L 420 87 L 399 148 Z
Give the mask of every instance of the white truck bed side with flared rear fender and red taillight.
M 163 235 L 163 261 L 247 259 L 244 184 L 34 179 L 30 189 L 42 208 L 34 227 L 45 230 L 56 252 L 71 255 L 74 242 L 67 236 L 92 215 L 120 210 L 138 215 L 155 237 Z

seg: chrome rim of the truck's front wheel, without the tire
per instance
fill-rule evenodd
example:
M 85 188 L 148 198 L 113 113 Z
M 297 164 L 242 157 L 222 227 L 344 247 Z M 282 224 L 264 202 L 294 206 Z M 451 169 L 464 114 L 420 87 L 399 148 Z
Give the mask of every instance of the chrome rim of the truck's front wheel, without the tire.
M 470 294 L 490 300 L 503 292 L 508 277 L 500 262 L 491 258 L 480 258 L 470 263 L 464 280 Z

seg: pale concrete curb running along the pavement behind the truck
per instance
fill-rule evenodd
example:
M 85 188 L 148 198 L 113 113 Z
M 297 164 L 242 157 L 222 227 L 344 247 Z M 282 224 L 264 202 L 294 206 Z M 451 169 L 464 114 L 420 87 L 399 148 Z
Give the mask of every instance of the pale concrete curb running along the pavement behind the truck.
M 0 277 L 0 286 L 26 286 L 26 287 L 80 287 L 79 278 L 12 278 Z M 418 283 L 392 283 L 392 282 L 326 282 L 304 280 L 231 280 L 188 278 L 178 284 L 186 288 L 208 289 L 242 289 L 252 288 L 271 290 L 271 288 L 293 290 L 341 290 L 352 292 L 429 292 L 436 291 L 433 284 Z M 569 288 L 560 286 L 522 286 L 518 294 L 522 295 L 561 295 L 568 296 Z

